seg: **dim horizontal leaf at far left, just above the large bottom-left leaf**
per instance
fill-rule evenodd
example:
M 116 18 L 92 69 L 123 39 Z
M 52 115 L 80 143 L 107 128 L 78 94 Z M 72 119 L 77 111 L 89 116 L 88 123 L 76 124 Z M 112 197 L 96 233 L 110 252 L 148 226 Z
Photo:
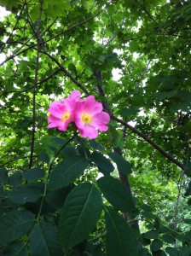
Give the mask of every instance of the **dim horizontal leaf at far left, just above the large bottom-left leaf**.
M 41 197 L 42 192 L 38 187 L 31 187 L 29 184 L 15 187 L 14 189 L 7 192 L 9 200 L 18 205 L 23 205 L 28 201 L 38 201 Z

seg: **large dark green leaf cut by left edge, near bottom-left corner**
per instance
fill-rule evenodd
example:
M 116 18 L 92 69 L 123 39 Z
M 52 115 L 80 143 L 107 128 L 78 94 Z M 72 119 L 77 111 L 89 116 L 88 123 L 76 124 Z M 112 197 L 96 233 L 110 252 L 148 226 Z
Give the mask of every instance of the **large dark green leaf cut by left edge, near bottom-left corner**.
M 6 245 L 27 234 L 34 223 L 34 215 L 26 211 L 12 211 L 0 217 L 0 244 Z

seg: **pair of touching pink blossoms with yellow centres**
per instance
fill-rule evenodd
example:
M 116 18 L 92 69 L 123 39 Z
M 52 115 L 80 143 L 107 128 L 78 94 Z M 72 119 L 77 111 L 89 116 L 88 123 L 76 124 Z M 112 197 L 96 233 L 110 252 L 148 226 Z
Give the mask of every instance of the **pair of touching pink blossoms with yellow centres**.
M 98 137 L 98 130 L 107 131 L 110 116 L 102 112 L 102 104 L 96 102 L 94 96 L 88 96 L 83 101 L 80 101 L 80 96 L 80 92 L 74 90 L 63 101 L 51 103 L 48 109 L 48 128 L 57 127 L 67 131 L 67 126 L 74 121 L 81 136 L 90 139 Z

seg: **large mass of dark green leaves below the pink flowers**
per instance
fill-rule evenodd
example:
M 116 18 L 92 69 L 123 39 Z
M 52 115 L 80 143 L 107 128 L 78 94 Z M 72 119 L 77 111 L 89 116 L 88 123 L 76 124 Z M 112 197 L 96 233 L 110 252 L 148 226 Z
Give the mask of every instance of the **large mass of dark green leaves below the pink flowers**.
M 67 146 L 68 142 L 60 137 L 53 141 L 60 148 L 52 148 L 56 151 L 52 157 L 45 152 L 40 154 L 48 166 L 47 173 L 35 167 L 9 176 L 5 168 L 1 169 L 1 255 L 27 255 L 28 246 L 32 255 L 64 255 L 71 247 L 80 252 L 78 244 L 90 239 L 90 233 L 96 233 L 102 210 L 105 212 L 107 236 L 104 227 L 99 232 L 106 236 L 107 254 L 133 253 L 136 240 L 130 236 L 130 227 L 118 210 L 134 212 L 136 207 L 124 184 L 110 175 L 114 170 L 111 160 L 98 150 L 90 153 L 90 149 L 84 146 Z M 59 161 L 56 160 L 58 153 Z M 126 175 L 130 173 L 127 161 L 116 154 L 110 154 L 110 157 Z M 96 180 L 93 175 L 96 168 L 104 177 Z M 89 169 L 92 169 L 91 178 L 77 179 Z M 103 203 L 102 193 L 114 208 L 106 200 Z M 128 242 L 126 237 L 129 237 Z M 92 253 L 92 250 L 97 250 L 94 255 L 101 255 L 102 248 L 97 244 L 99 237 L 92 240 L 86 241 L 84 251 Z

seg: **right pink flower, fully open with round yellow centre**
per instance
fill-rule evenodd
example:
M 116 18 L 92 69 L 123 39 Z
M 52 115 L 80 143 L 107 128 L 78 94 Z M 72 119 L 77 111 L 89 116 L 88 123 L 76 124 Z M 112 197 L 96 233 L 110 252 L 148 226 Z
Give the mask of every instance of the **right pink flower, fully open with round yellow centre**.
M 90 139 L 98 137 L 98 130 L 107 131 L 109 120 L 109 114 L 102 112 L 102 104 L 96 102 L 94 96 L 76 102 L 74 122 L 82 137 L 90 137 Z

